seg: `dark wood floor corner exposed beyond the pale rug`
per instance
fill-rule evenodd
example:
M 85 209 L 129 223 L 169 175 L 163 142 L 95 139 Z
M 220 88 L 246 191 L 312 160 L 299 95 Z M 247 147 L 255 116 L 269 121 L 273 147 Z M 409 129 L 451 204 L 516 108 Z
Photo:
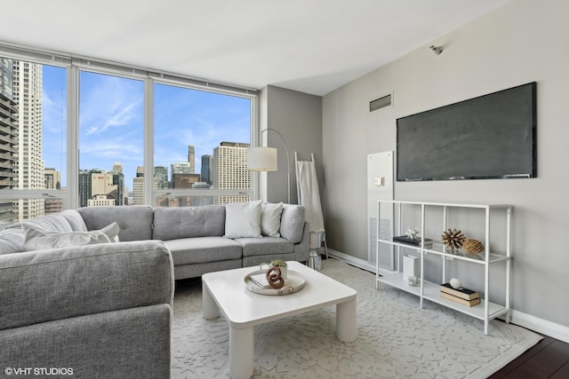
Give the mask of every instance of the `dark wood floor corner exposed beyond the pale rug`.
M 539 343 L 489 377 L 489 379 L 545 378 L 569 378 L 569 343 L 543 336 Z

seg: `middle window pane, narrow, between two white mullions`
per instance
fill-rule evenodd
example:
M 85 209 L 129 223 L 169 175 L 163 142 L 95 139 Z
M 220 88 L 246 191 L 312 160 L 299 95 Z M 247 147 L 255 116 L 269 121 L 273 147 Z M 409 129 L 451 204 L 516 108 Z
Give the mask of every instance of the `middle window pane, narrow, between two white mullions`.
M 144 203 L 144 83 L 82 71 L 79 206 Z

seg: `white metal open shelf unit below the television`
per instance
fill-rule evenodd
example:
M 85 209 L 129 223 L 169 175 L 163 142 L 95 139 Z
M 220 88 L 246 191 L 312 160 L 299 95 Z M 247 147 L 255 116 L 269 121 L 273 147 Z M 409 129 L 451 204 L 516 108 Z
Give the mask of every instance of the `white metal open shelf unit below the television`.
M 444 230 L 443 243 L 433 243 L 427 246 L 424 234 L 421 235 L 419 243 L 413 246 L 418 261 L 418 272 L 414 275 L 416 278 L 416 286 L 410 285 L 410 270 L 405 270 L 405 261 L 409 260 L 405 257 L 405 248 L 409 249 L 410 245 L 397 241 L 397 237 L 386 237 L 389 233 L 384 231 L 388 225 L 378 223 L 377 233 L 379 236 L 376 243 L 376 249 L 379 251 L 385 245 L 394 247 L 394 261 L 396 267 L 393 273 L 380 275 L 379 261 L 376 262 L 375 288 L 379 289 L 379 283 L 404 290 L 410 294 L 419 297 L 419 307 L 423 308 L 423 301 L 428 300 L 433 303 L 444 305 L 457 312 L 462 312 L 484 321 L 484 334 L 488 334 L 488 323 L 490 320 L 498 317 L 503 318 L 509 323 L 510 312 L 510 271 L 511 271 L 511 217 L 512 206 L 504 204 L 457 204 L 448 202 L 429 202 L 429 201 L 397 201 L 397 200 L 380 200 L 377 201 L 377 214 L 380 215 L 384 207 L 391 207 L 394 214 L 397 214 L 397 225 L 394 226 L 393 233 L 397 235 L 405 233 L 402 223 L 406 217 L 415 217 L 421 215 L 421 231 L 426 230 Z M 449 228 L 447 222 L 449 219 L 455 219 L 463 213 L 469 213 L 469 229 L 476 231 L 484 230 L 484 239 L 481 241 L 467 241 L 464 234 L 456 228 Z M 442 216 L 442 217 L 441 217 Z M 490 227 L 494 223 L 505 223 L 505 227 Z M 429 227 L 426 227 L 429 225 Z M 440 229 L 439 229 L 440 227 Z M 500 232 L 497 232 L 500 231 Z M 496 241 L 493 243 L 493 250 L 489 248 L 488 241 Z M 479 233 L 479 232 L 477 232 Z M 494 235 L 495 234 L 495 235 Z M 406 235 L 403 236 L 408 238 Z M 497 238 L 499 237 L 499 238 Z M 445 244 L 445 241 L 447 243 Z M 469 251 L 482 249 L 478 254 L 469 254 L 464 249 L 464 242 Z M 479 242 L 479 243 L 478 243 Z M 381 246 L 382 245 L 382 246 Z M 472 245 L 472 246 L 470 246 Z M 462 247 L 461 251 L 458 248 Z M 453 250 L 451 251 L 452 248 Z M 456 249 L 456 250 L 454 250 Z M 429 259 L 426 257 L 429 256 Z M 437 260 L 440 258 L 440 261 Z M 468 272 L 483 272 L 484 288 L 480 284 L 480 292 L 471 291 L 471 294 L 465 296 L 461 293 L 466 292 L 465 288 L 453 288 L 450 278 L 452 278 L 451 270 L 447 265 L 447 261 L 453 261 L 453 270 L 464 268 L 468 265 Z M 411 265 L 413 267 L 413 264 Z M 442 270 L 441 270 L 442 268 Z M 500 272 L 498 272 L 500 271 Z M 492 287 L 490 286 L 491 272 L 497 278 L 492 278 Z M 442 278 L 432 280 L 429 275 L 437 277 L 442 273 Z M 503 278 L 503 279 L 500 279 Z M 462 278 L 466 280 L 468 278 Z M 452 284 L 457 286 L 458 280 L 453 280 Z M 440 283 L 445 283 L 441 285 Z M 455 292 L 453 292 L 455 291 Z M 496 300 L 493 294 L 503 294 L 500 300 Z M 479 305 L 477 305 L 479 304 Z M 477 306 L 474 306 L 477 305 Z

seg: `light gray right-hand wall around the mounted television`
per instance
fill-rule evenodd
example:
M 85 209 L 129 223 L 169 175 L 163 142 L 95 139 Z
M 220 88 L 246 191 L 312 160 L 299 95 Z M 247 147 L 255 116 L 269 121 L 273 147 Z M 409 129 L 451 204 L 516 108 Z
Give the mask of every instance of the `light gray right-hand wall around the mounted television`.
M 514 0 L 325 95 L 328 247 L 367 260 L 366 156 L 396 149 L 398 117 L 535 81 L 537 178 L 396 182 L 395 197 L 512 204 L 513 309 L 527 324 L 540 319 L 569 340 L 567 15 L 565 0 Z M 431 44 L 443 53 L 435 55 Z M 393 107 L 370 113 L 369 102 L 389 93 Z

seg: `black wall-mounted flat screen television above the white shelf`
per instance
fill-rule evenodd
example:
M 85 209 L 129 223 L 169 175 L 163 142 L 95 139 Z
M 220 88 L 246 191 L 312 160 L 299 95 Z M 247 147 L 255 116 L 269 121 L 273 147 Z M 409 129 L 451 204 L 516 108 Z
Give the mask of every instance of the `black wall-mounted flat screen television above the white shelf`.
M 536 83 L 397 119 L 397 181 L 537 176 Z

